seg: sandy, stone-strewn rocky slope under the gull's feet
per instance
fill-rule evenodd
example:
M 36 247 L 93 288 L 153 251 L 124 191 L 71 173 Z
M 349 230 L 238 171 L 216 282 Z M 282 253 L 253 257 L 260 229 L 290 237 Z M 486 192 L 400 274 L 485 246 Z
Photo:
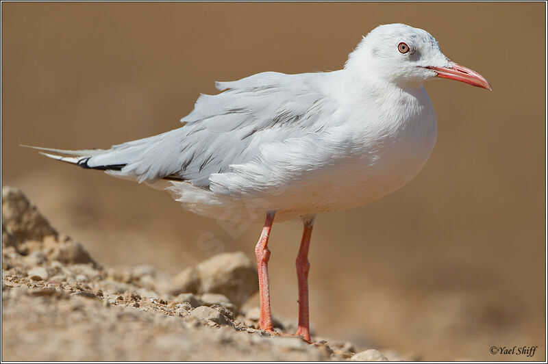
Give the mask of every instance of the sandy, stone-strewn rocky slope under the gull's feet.
M 170 277 L 102 267 L 20 191 L 2 190 L 3 361 L 402 361 L 352 343 L 258 330 L 256 268 L 241 252 Z M 275 320 L 279 332 L 295 327 Z

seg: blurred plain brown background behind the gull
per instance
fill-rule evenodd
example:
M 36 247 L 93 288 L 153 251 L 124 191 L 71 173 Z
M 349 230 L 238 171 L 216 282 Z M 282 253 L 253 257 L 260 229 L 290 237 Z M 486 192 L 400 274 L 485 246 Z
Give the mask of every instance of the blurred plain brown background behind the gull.
M 18 144 L 143 138 L 179 127 L 215 80 L 336 70 L 379 24 L 426 29 L 494 90 L 428 83 L 438 142 L 421 173 L 376 203 L 319 216 L 313 329 L 422 359 L 544 359 L 544 3 L 3 3 L 2 21 L 3 185 L 23 188 L 103 265 L 169 272 L 221 250 L 253 257 L 261 226 L 231 233 L 166 192 Z M 275 224 L 269 244 L 273 311 L 295 319 L 300 237 L 299 224 Z M 525 358 L 490 346 L 539 348 Z

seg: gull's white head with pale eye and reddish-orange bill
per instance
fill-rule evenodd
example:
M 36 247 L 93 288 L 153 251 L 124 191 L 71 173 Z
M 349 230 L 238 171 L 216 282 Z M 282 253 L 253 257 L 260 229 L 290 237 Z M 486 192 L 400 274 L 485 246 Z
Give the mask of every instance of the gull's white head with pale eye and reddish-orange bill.
M 404 24 L 373 29 L 350 53 L 345 68 L 401 86 L 421 85 L 440 77 L 491 90 L 482 75 L 445 57 L 427 31 Z

